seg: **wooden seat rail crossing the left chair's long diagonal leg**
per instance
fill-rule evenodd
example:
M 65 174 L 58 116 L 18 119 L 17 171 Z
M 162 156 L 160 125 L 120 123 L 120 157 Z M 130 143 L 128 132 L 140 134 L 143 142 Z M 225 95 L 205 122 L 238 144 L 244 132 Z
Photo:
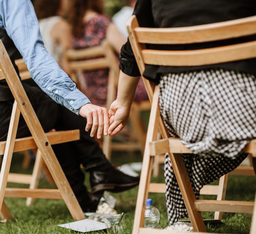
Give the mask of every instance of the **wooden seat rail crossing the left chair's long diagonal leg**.
M 48 141 L 51 145 L 64 143 L 68 141 L 79 140 L 79 130 L 69 130 L 69 131 L 58 131 L 58 132 L 50 132 L 45 134 L 48 138 Z M 0 155 L 5 152 L 5 143 L 6 141 L 0 142 Z M 14 150 L 13 152 L 23 151 L 27 149 L 37 148 L 37 144 L 35 143 L 32 136 L 28 136 L 25 138 L 19 138 L 15 140 Z

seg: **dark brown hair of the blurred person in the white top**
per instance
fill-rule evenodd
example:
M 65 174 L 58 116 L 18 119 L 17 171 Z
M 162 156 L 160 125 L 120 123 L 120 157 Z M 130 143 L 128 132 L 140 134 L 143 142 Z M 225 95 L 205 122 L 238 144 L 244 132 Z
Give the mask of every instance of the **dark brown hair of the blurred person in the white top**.
M 57 15 L 61 0 L 34 0 L 37 19 L 45 19 Z

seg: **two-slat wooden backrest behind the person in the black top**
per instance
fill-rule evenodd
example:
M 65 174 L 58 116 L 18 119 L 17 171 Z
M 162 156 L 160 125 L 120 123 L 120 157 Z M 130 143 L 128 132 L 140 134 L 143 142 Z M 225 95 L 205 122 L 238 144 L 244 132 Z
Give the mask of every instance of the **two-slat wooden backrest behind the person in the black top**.
M 256 41 L 191 51 L 145 48 L 145 43 L 189 44 L 253 35 L 256 34 L 256 16 L 182 28 L 142 28 L 138 26 L 136 16 L 133 15 L 127 22 L 127 29 L 130 35 L 134 35 L 133 47 L 138 49 L 136 61 L 141 73 L 145 69 L 144 64 L 202 66 L 256 58 Z

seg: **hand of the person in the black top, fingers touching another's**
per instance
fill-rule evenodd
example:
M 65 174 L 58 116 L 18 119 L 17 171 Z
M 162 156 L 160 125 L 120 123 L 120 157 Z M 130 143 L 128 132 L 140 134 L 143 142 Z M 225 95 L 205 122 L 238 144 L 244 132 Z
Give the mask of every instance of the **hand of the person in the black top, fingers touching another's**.
M 109 110 L 109 135 L 113 136 L 119 133 L 126 125 L 129 119 L 130 108 L 120 105 L 118 101 L 113 101 Z

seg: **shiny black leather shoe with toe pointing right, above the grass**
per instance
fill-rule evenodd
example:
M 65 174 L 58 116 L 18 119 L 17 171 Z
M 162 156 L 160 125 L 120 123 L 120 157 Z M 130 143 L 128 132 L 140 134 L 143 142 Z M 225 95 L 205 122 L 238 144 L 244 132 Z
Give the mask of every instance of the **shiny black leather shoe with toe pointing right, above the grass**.
M 104 190 L 118 193 L 139 184 L 139 176 L 126 175 L 118 169 L 108 166 L 99 171 L 90 172 L 90 183 L 93 194 L 102 194 Z

